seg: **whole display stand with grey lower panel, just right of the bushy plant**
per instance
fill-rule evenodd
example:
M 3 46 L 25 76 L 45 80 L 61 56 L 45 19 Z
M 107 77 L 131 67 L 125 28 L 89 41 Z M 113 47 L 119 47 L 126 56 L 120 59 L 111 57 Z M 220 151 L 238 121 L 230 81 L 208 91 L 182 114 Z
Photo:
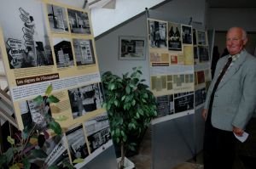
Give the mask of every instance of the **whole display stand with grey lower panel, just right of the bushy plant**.
M 196 161 L 196 154 L 201 151 L 204 121 L 201 110 L 197 108 L 198 101 L 195 102 L 196 66 L 195 56 L 191 57 L 195 44 L 191 35 L 192 26 L 195 30 L 204 30 L 204 27 L 192 17 L 177 19 L 148 8 L 145 8 L 145 14 L 148 22 L 150 85 L 160 104 L 159 111 L 162 110 L 152 121 L 152 168 L 167 169 L 190 159 Z M 167 28 L 170 25 L 176 30 L 181 25 L 177 37 L 183 39 L 180 42 L 183 47 L 178 46 L 180 43 L 171 42 L 174 41 L 172 38 L 169 43 Z M 183 37 L 180 32 L 188 37 Z M 160 33 L 162 37 L 157 38 Z M 186 76 L 186 80 L 181 80 L 182 76 Z M 193 82 L 189 79 L 193 79 Z

